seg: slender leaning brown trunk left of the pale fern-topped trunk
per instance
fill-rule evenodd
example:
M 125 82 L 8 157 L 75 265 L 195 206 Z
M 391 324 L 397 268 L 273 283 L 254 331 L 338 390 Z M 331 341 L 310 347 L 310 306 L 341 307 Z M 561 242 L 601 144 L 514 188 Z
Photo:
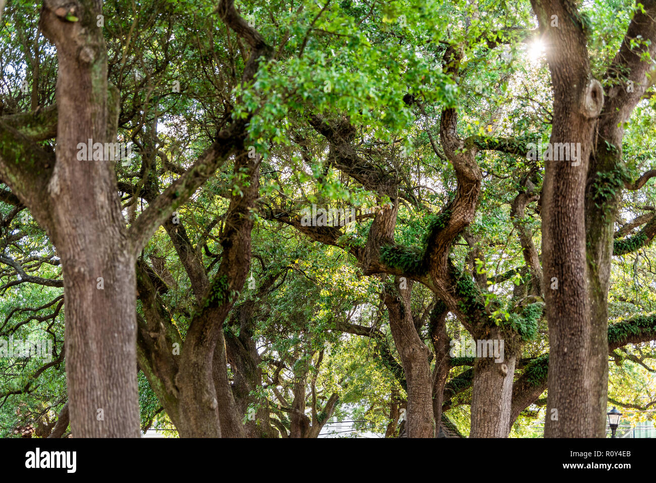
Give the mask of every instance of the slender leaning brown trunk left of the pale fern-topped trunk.
M 384 303 L 390 317 L 390 329 L 394 345 L 399 352 L 405 381 L 407 382 L 407 434 L 409 438 L 434 437 L 432 377 L 428 364 L 428 347 L 419 337 L 413 321 L 410 293 L 412 282 L 406 289 L 388 287 Z

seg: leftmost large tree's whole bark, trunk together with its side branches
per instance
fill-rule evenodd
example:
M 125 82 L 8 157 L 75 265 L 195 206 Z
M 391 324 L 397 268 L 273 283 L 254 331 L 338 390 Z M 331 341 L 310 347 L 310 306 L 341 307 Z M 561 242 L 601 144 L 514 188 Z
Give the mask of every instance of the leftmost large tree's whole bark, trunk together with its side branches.
M 243 72 L 243 81 L 250 81 L 260 59 L 270 58 L 272 50 L 237 14 L 232 1 L 221 1 L 218 13 L 251 47 Z M 119 96 L 107 83 L 98 14 L 102 3 L 97 0 L 44 2 L 41 30 L 58 54 L 57 104 L 43 112 L 3 117 L 0 179 L 30 208 L 62 257 L 73 436 L 137 437 L 136 257 L 157 227 L 236 148 L 243 152 L 248 119 L 218 131 L 194 165 L 126 230 L 113 165 L 77 159 L 78 143 L 113 142 L 117 131 Z M 31 121 L 39 127 L 31 128 Z M 26 127 L 27 134 L 15 129 L 19 126 Z M 35 142 L 55 134 L 56 156 Z M 147 329 L 140 331 L 140 349 L 155 344 L 147 339 L 158 329 Z M 199 345 L 205 347 L 206 342 Z M 140 354 L 140 361 L 147 355 Z M 171 388 L 166 392 L 174 396 Z

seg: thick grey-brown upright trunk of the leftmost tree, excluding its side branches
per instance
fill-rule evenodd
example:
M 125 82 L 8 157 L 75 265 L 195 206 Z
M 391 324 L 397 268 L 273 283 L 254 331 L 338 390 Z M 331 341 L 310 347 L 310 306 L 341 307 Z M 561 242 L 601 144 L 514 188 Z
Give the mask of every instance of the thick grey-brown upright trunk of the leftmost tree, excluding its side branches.
M 50 234 L 64 269 L 72 434 L 138 437 L 134 257 L 113 163 L 77 159 L 78 143 L 113 140 L 104 38 L 96 26 L 101 7 L 47 0 L 41 15 L 59 63 Z

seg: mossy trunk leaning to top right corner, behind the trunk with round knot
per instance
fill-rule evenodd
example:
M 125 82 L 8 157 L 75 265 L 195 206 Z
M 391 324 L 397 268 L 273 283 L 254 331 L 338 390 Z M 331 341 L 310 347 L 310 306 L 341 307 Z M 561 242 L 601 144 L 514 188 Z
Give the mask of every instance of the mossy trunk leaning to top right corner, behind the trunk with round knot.
M 621 174 L 624 126 L 649 85 L 655 81 L 653 63 L 649 60 L 656 54 L 655 15 L 656 1 L 646 0 L 636 7 L 626 37 L 609 66 L 607 78 L 614 82 L 609 83 L 612 87 L 598 120 L 596 149 L 588 169 L 585 222 L 590 289 L 590 366 L 591 377 L 600 381 L 592 387 L 596 436 L 604 436 L 608 404 L 608 290 L 613 231 L 626 181 Z M 644 43 L 634 45 L 635 39 L 640 37 Z M 606 196 L 611 192 L 611 196 L 600 197 L 600 189 L 605 190 Z

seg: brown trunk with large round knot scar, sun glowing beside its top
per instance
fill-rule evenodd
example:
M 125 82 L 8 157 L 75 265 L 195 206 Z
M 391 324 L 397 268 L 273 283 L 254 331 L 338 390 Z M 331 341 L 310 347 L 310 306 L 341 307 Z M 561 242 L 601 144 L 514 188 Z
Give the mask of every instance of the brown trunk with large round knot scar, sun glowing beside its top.
M 598 364 L 590 347 L 584 200 L 594 120 L 602 110 L 604 91 L 590 74 L 586 36 L 575 4 L 531 3 L 547 41 L 554 91 L 551 147 L 556 154 L 556 146 L 567 143 L 579 153 L 560 159 L 560 151 L 544 163 L 543 273 L 550 345 L 544 436 L 593 437 L 598 436 L 599 421 L 594 394 L 605 381 L 595 373 Z

